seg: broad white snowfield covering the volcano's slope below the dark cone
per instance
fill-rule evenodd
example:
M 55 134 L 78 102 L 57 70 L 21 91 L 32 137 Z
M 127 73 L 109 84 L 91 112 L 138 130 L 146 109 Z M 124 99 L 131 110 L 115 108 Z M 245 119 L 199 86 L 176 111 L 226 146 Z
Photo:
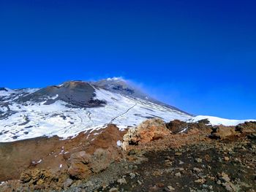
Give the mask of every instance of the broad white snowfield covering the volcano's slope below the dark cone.
M 82 131 L 104 128 L 108 123 L 121 130 L 136 126 L 148 118 L 189 120 L 192 116 L 159 104 L 135 99 L 104 89 L 95 89 L 94 99 L 105 100 L 104 107 L 67 107 L 64 101 L 53 104 L 9 102 L 0 107 L 1 113 L 11 113 L 0 119 L 0 142 L 13 142 L 34 137 L 75 137 Z M 0 95 L 1 96 L 1 95 Z M 9 108 L 9 110 L 8 110 Z

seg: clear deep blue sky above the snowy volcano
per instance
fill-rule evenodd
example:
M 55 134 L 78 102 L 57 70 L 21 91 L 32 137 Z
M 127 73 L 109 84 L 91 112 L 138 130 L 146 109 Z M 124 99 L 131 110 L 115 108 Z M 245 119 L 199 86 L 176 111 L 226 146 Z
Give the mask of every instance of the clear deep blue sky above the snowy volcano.
M 0 87 L 122 76 L 195 115 L 256 118 L 255 1 L 0 1 Z

